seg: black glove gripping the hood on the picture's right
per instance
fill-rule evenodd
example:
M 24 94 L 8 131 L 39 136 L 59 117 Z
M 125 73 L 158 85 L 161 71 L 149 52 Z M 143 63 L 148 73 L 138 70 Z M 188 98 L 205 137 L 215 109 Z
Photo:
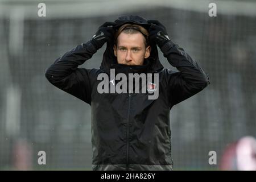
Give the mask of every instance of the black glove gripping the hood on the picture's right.
M 170 38 L 166 32 L 166 27 L 163 26 L 158 20 L 148 20 L 151 24 L 149 28 L 150 41 L 158 44 L 159 48 L 162 48 L 164 44 L 170 41 Z

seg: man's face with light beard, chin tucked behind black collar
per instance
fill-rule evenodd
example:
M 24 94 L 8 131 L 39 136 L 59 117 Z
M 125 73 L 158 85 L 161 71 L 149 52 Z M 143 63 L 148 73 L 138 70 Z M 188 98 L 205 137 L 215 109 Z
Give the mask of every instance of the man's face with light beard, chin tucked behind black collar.
M 118 64 L 143 65 L 144 59 L 150 56 L 150 46 L 145 46 L 141 32 L 126 34 L 121 32 L 114 45 L 114 55 Z

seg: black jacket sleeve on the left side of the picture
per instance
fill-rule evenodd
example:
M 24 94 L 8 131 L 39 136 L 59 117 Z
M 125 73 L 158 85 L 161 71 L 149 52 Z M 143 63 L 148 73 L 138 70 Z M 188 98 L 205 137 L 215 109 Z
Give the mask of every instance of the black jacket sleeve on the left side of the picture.
M 90 69 L 78 68 L 96 52 L 92 43 L 82 43 L 59 57 L 45 76 L 51 84 L 90 104 Z

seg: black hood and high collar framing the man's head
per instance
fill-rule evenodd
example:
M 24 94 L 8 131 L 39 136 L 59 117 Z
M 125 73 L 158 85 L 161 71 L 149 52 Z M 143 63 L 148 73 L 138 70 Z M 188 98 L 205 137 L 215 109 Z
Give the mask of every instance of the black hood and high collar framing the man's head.
M 118 19 L 114 21 L 116 25 L 113 27 L 115 31 L 118 30 L 123 24 L 134 23 L 144 27 L 148 30 L 151 26 L 150 23 L 147 23 L 147 20 L 138 15 L 128 15 L 128 16 L 120 16 Z M 158 49 L 156 47 L 156 43 L 151 42 L 151 52 L 150 57 L 144 60 L 144 65 L 124 65 L 117 63 L 117 57 L 114 55 L 114 40 L 112 42 L 108 42 L 106 46 L 106 50 L 103 55 L 103 60 L 101 63 L 101 69 L 103 69 L 106 73 L 110 72 L 110 68 L 129 68 L 134 69 L 134 72 L 139 69 L 147 69 L 147 72 L 159 72 L 163 69 L 163 65 L 159 61 L 158 57 Z

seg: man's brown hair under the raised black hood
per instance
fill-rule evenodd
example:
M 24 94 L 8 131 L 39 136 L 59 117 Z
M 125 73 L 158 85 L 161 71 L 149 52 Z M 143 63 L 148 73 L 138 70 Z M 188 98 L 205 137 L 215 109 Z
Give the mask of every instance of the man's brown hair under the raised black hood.
M 117 32 L 115 32 L 114 35 L 114 43 L 117 46 L 117 38 L 121 34 L 121 32 L 124 32 L 125 34 L 135 34 L 137 32 L 141 32 L 141 34 L 145 38 L 145 46 L 148 46 L 148 31 L 143 28 L 142 26 L 139 26 L 138 24 L 123 24 L 120 28 L 118 28 Z

